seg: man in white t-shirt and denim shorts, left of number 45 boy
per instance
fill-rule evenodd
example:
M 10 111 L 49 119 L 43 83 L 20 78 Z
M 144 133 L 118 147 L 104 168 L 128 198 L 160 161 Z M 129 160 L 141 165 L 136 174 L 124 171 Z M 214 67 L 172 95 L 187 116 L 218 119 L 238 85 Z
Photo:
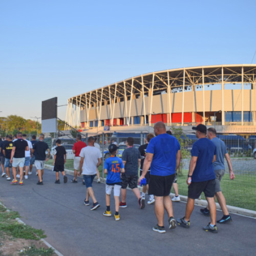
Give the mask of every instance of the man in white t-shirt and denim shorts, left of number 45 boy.
M 93 206 L 91 207 L 91 210 L 95 210 L 100 206 L 95 198 L 92 183 L 94 177 L 97 174 L 97 168 L 101 165 L 102 155 L 100 150 L 94 146 L 94 140 L 94 137 L 90 136 L 88 138 L 88 146 L 83 147 L 79 155 L 81 157 L 79 175 L 82 173 L 87 188 L 84 205 L 90 205 L 89 198 L 91 197 L 93 200 Z

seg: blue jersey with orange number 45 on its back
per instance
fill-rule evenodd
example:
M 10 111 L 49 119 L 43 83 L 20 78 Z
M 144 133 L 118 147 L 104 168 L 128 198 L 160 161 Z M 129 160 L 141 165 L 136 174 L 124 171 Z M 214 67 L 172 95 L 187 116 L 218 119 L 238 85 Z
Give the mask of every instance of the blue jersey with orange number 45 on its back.
M 119 157 L 109 157 L 105 160 L 104 169 L 108 170 L 106 184 L 121 183 L 120 171 L 123 168 L 123 161 Z

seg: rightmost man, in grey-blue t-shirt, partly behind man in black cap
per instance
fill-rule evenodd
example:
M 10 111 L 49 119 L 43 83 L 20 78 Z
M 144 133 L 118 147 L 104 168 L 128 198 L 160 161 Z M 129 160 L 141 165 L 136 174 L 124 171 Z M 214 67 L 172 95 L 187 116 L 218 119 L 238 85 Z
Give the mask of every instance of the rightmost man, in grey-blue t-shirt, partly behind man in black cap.
M 215 196 L 217 197 L 217 200 L 218 200 L 218 202 L 221 206 L 222 212 L 223 212 L 223 217 L 220 220 L 218 220 L 217 222 L 221 223 L 221 224 L 231 222 L 232 218 L 228 213 L 227 206 L 226 206 L 226 199 L 222 194 L 220 182 L 221 182 L 223 175 L 225 174 L 224 157 L 227 160 L 230 180 L 234 179 L 232 164 L 230 161 L 230 157 L 227 153 L 227 147 L 226 147 L 224 141 L 217 138 L 216 130 L 214 128 L 210 127 L 207 129 L 207 138 L 210 139 L 212 142 L 214 142 L 214 144 L 216 146 L 216 160 L 214 162 L 214 172 L 215 172 L 215 176 L 216 176 Z M 202 214 L 209 216 L 210 212 L 209 212 L 208 206 L 206 208 L 200 209 L 200 211 L 202 212 Z

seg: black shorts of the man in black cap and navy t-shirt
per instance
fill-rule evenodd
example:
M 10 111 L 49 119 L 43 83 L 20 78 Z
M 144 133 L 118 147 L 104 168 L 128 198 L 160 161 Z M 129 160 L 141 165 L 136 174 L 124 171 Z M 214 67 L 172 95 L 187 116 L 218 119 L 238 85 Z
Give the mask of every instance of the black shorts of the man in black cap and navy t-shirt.
M 188 186 L 187 196 L 192 199 L 197 199 L 204 193 L 205 197 L 214 197 L 215 195 L 215 179 L 201 182 L 191 182 Z

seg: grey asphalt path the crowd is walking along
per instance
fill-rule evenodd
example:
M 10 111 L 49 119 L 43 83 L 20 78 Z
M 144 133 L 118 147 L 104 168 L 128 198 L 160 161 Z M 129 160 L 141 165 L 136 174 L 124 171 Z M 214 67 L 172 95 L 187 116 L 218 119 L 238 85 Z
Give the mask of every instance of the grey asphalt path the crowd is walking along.
M 169 230 L 164 217 L 166 233 L 152 230 L 157 223 L 154 205 L 140 209 L 131 190 L 127 190 L 127 208 L 120 208 L 120 221 L 114 219 L 114 199 L 111 195 L 112 217 L 102 215 L 105 210 L 105 184 L 93 183 L 100 203 L 96 210 L 84 206 L 86 187 L 79 183 L 54 184 L 55 173 L 45 169 L 44 185 L 37 185 L 37 176 L 24 180 L 24 185 L 10 185 L 0 178 L 0 200 L 18 211 L 26 224 L 45 230 L 45 239 L 63 255 L 255 255 L 255 219 L 232 215 L 233 222 L 218 224 L 218 233 L 206 232 L 202 227 L 209 217 L 195 206 L 190 228 L 177 226 Z M 255 199 L 253 199 L 255 200 Z M 174 216 L 183 217 L 185 203 L 175 202 Z M 222 212 L 217 212 L 217 219 Z

